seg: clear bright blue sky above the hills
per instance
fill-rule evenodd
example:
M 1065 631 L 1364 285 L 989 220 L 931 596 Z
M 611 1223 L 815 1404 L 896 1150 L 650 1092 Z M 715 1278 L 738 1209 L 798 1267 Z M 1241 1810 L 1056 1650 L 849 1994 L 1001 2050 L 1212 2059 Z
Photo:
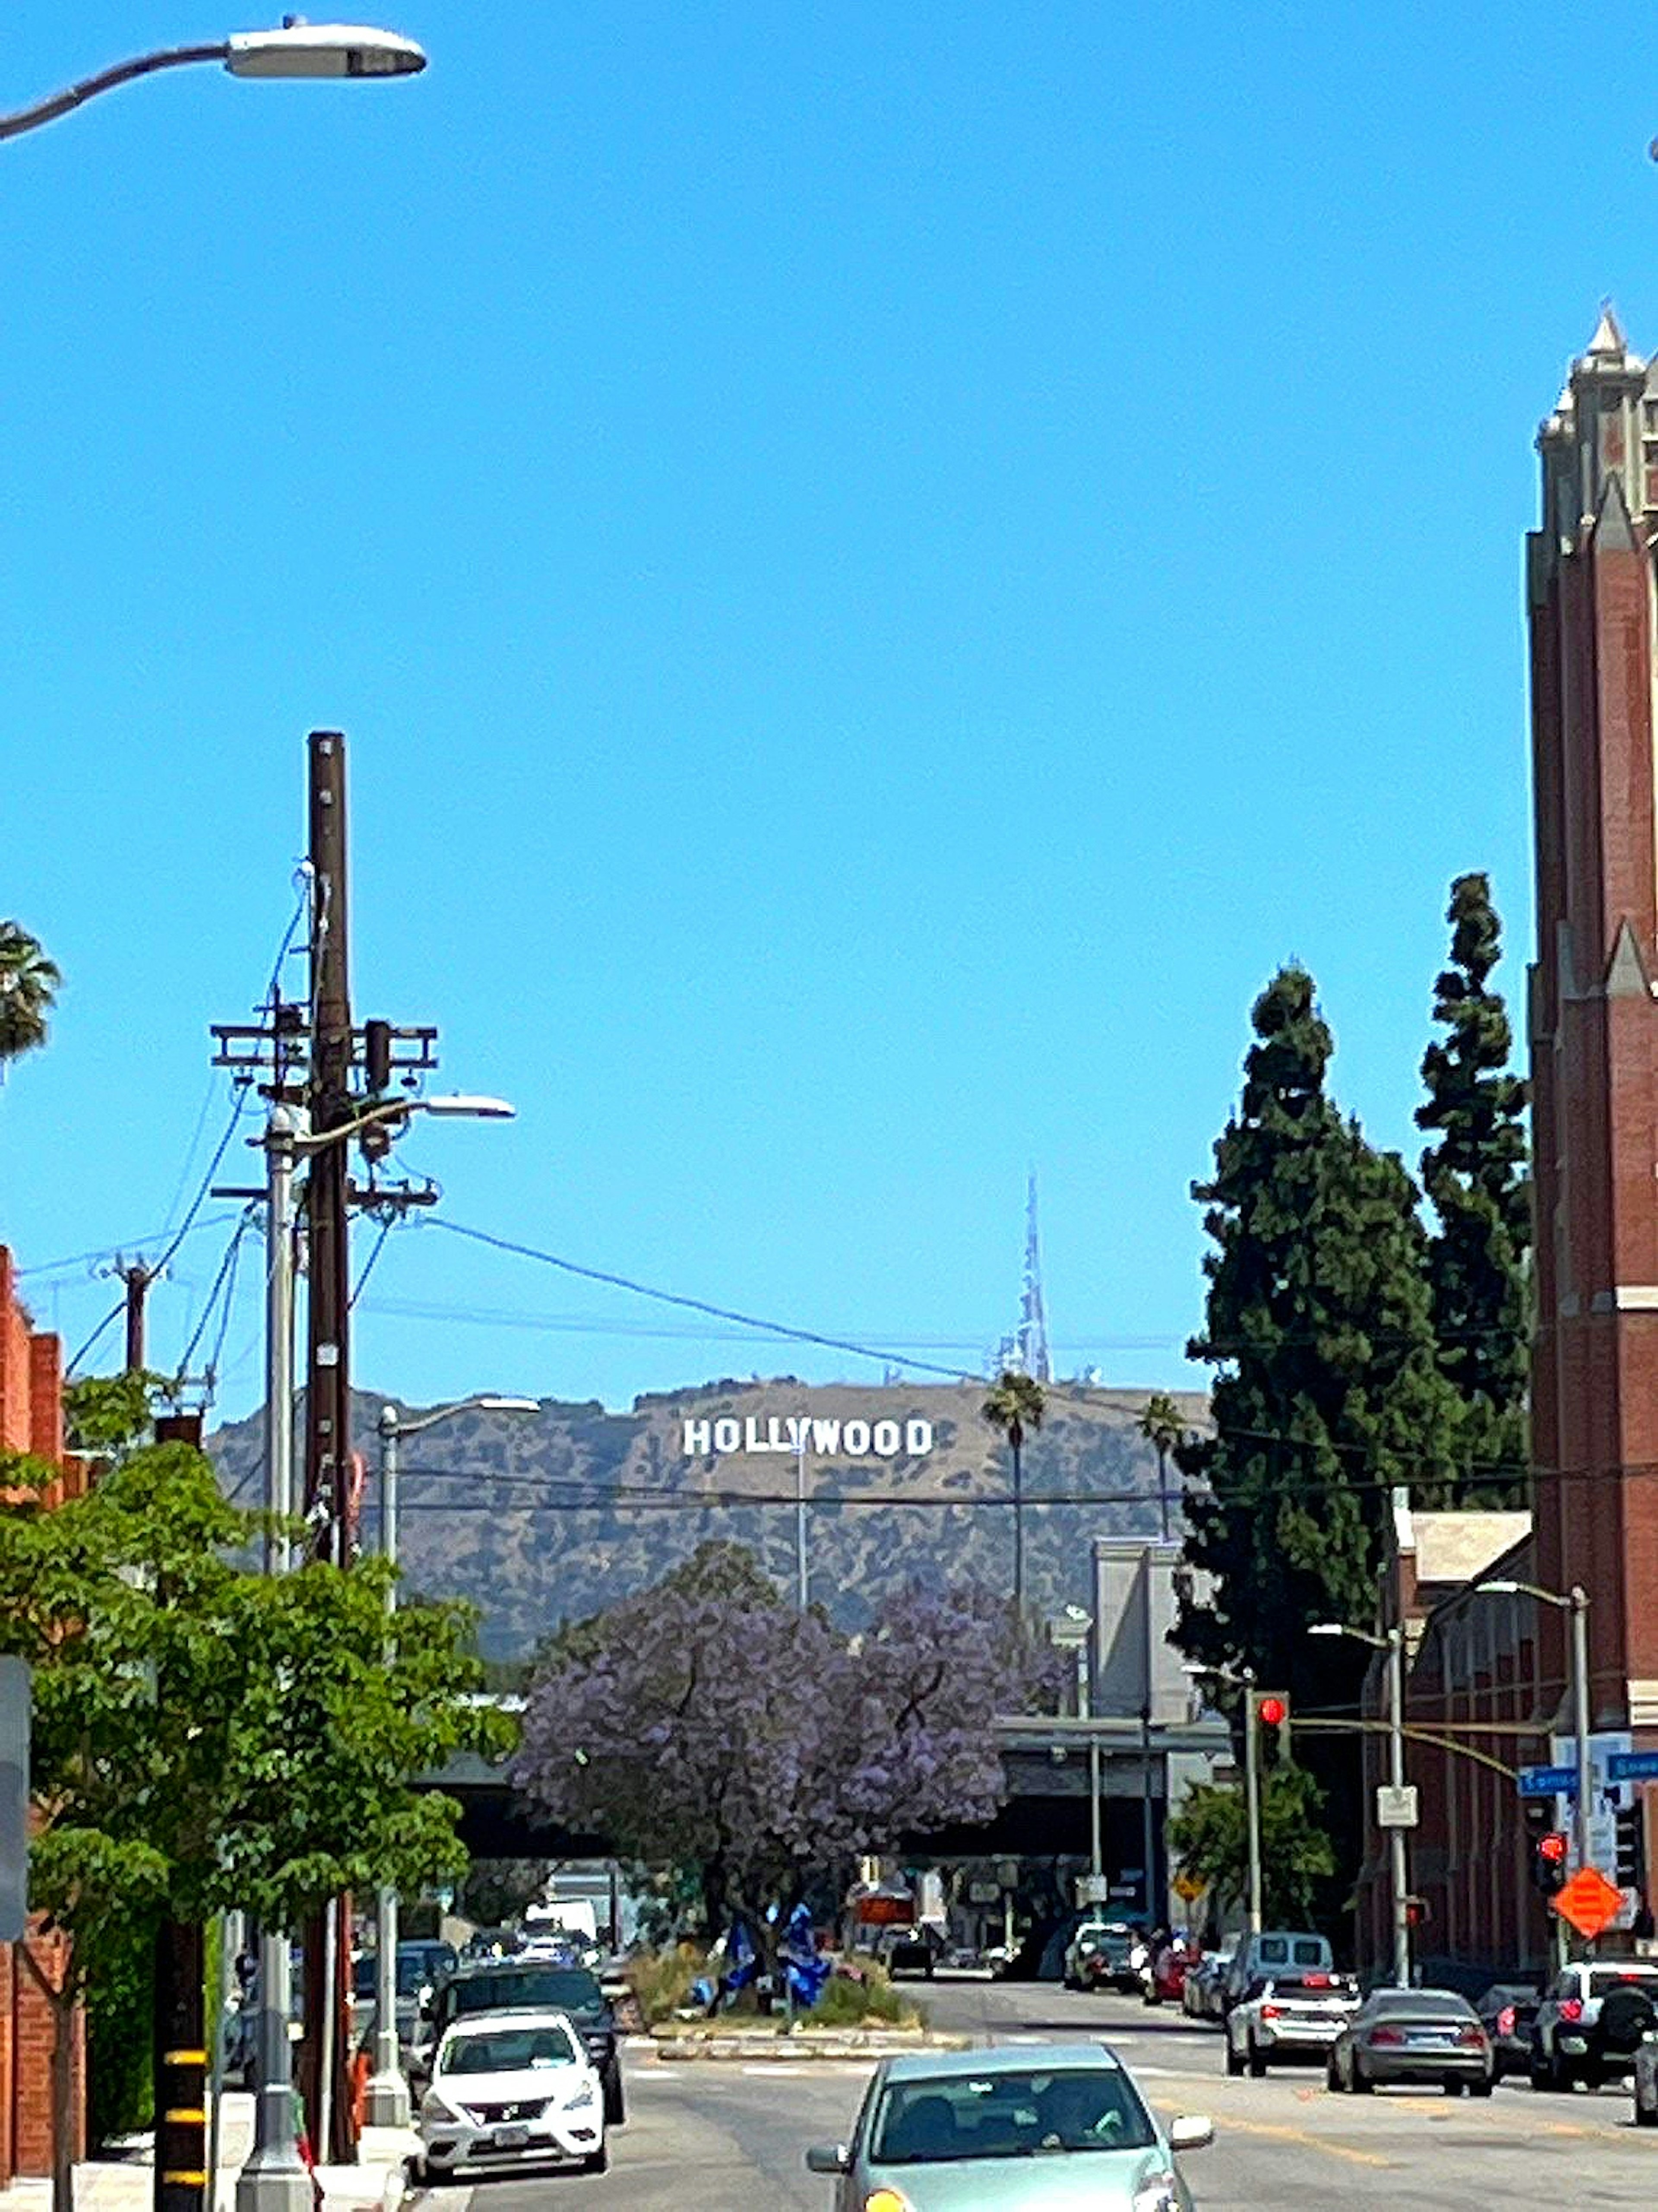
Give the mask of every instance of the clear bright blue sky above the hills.
M 358 1013 L 520 1106 L 407 1141 L 447 1214 L 977 1365 L 1035 1161 L 1061 1363 L 1183 1380 L 1278 960 L 1413 1155 L 1463 867 L 1519 991 L 1532 434 L 1601 294 L 1658 343 L 1649 13 L 1623 69 L 1523 4 L 396 22 L 418 82 L 188 71 L 0 148 L 0 914 L 69 980 L 0 1095 L 38 1318 L 80 1340 L 111 1285 L 44 1263 L 206 1166 L 336 726 Z M 18 4 L 0 84 L 217 29 Z M 422 1225 L 356 1363 L 878 1376 L 690 1327 Z M 245 1411 L 256 1265 L 223 1365 Z

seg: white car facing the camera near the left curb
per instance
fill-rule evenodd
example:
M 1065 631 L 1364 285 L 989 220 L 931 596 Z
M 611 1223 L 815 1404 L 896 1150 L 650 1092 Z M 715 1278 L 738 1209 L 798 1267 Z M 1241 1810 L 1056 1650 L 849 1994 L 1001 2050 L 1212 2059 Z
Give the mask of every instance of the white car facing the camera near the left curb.
M 469 2013 L 444 2031 L 420 2099 L 422 2181 L 577 2166 L 601 2174 L 604 2084 L 564 2013 Z

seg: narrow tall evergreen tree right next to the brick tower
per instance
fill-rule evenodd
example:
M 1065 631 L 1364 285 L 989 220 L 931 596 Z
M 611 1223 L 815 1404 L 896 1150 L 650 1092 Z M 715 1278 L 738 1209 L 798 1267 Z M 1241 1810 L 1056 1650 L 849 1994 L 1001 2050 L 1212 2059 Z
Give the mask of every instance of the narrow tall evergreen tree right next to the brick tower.
M 1528 1086 L 1510 1073 L 1514 1035 L 1490 975 L 1503 938 L 1488 876 L 1450 885 L 1450 964 L 1435 984 L 1446 1029 L 1421 1057 L 1417 1128 L 1435 1144 L 1421 1183 L 1439 1217 L 1428 1290 L 1439 1367 L 1463 1407 L 1463 1493 L 1523 1493 L 1528 1453 Z

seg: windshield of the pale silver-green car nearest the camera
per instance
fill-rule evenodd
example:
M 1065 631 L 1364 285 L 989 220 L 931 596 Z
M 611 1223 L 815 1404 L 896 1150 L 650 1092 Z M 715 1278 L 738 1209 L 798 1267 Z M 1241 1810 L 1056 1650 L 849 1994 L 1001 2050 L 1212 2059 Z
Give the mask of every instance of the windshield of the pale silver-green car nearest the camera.
M 931 2075 L 880 2101 L 875 2166 L 944 2166 L 1063 2150 L 1150 2150 L 1152 2119 L 1119 2066 Z

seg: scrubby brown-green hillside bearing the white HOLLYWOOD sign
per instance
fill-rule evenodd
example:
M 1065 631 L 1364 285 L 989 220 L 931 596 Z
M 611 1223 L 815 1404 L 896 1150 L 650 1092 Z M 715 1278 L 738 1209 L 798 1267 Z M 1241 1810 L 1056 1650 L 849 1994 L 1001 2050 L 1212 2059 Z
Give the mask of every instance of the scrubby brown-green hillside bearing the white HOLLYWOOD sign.
M 1054 1385 L 1048 1420 L 1026 1442 L 1028 1498 L 1099 1498 L 1026 1513 L 1028 1584 L 1043 1610 L 1088 1599 L 1092 1537 L 1158 1528 L 1156 1458 L 1132 1427 L 1145 1398 Z M 562 1619 L 659 1579 L 707 1535 L 749 1544 L 791 1590 L 789 1422 L 805 1416 L 811 1595 L 842 1626 L 913 1575 L 1006 1588 L 1012 1515 L 995 1500 L 1008 1493 L 1008 1455 L 979 1418 L 982 1400 L 984 1387 L 968 1383 L 785 1378 L 648 1396 L 626 1413 L 557 1400 L 537 1413 L 455 1413 L 402 1447 L 405 1584 L 473 1599 L 495 1659 L 522 1657 Z M 356 1394 L 369 1540 L 382 1402 Z M 1200 1396 L 1176 1402 L 1203 1420 Z M 261 1427 L 254 1416 L 208 1444 L 245 1502 L 259 1493 Z

